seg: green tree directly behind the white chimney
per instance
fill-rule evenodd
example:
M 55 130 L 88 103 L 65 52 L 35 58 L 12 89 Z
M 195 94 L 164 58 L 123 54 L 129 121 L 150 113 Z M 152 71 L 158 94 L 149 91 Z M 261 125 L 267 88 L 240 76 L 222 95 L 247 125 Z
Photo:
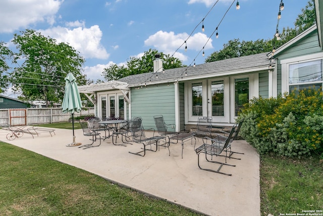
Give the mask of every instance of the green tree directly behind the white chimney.
M 152 72 L 155 54 L 160 54 L 160 59 L 163 60 L 164 69 L 183 67 L 182 62 L 178 58 L 170 57 L 169 54 L 159 53 L 157 50 L 149 49 L 141 58 L 130 57 L 126 66 L 112 64 L 109 67 L 104 68 L 102 74 L 104 78 L 109 81 L 129 75 Z

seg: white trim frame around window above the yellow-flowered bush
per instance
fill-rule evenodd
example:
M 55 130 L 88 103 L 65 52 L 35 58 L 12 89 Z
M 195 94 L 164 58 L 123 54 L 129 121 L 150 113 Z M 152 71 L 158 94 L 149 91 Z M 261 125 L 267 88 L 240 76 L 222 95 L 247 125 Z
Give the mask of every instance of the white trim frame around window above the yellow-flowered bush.
M 299 57 L 295 57 L 295 58 L 281 60 L 282 94 L 289 93 L 289 65 L 303 63 L 303 62 L 310 62 L 310 61 L 315 61 L 315 60 L 322 60 L 322 62 L 323 62 L 323 53 L 316 53 L 316 54 L 299 56 Z M 301 84 L 308 84 L 308 83 L 310 83 L 310 82 L 304 82 L 304 83 L 299 83 L 299 84 L 301 85 Z M 317 83 L 317 81 L 315 81 L 315 83 Z M 323 83 L 323 81 L 322 81 L 322 83 Z

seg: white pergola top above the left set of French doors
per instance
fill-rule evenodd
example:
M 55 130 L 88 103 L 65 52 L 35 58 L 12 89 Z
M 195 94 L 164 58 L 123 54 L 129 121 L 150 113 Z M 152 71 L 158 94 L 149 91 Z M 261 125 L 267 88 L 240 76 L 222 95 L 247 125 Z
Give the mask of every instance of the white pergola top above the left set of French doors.
M 107 90 L 130 90 L 128 83 L 120 81 L 109 81 L 89 85 L 80 85 L 78 87 L 80 93 L 94 94 L 95 92 Z

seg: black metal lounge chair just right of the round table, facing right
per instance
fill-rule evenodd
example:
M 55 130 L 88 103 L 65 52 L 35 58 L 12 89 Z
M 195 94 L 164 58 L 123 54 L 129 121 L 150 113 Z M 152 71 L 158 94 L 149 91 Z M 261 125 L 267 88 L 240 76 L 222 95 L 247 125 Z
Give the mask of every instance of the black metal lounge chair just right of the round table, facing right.
M 130 152 L 131 154 L 136 154 L 139 156 L 145 156 L 146 151 L 157 151 L 158 143 L 162 139 L 166 139 L 166 137 L 163 136 L 154 136 L 154 130 L 153 130 L 153 136 L 152 137 L 146 137 L 144 133 L 144 129 L 141 124 L 142 119 L 140 117 L 135 117 L 132 119 L 130 123 L 130 132 L 132 135 L 132 140 L 135 143 L 141 143 L 143 145 L 143 150 L 139 152 Z M 156 145 L 156 150 L 151 149 L 151 145 L 155 144 Z M 146 147 L 150 146 L 150 149 L 147 149 Z M 169 148 L 168 148 L 169 150 Z M 143 154 L 141 154 L 143 152 Z M 171 152 L 169 151 L 171 154 Z

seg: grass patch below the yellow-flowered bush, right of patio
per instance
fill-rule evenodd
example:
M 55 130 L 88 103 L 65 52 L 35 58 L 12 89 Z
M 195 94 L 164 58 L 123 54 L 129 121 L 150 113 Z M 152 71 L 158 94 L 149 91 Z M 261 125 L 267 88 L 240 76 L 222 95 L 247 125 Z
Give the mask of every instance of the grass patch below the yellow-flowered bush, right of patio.
M 322 160 L 263 155 L 260 162 L 261 215 L 323 210 Z

